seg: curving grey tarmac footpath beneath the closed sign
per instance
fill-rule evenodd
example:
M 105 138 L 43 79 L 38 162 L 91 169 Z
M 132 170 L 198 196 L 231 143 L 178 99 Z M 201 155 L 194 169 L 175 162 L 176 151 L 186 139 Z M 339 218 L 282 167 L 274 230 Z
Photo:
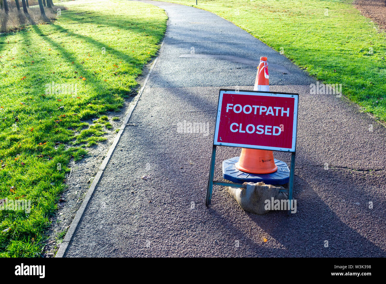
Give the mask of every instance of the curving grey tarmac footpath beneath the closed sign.
M 168 13 L 164 45 L 65 256 L 385 257 L 386 129 L 344 98 L 310 95 L 313 78 L 230 22 L 143 2 Z M 296 214 L 246 213 L 218 186 L 205 207 L 218 90 L 252 90 L 256 66 L 179 57 L 191 47 L 251 61 L 268 56 L 291 73 L 270 70 L 269 79 L 273 91 L 300 94 Z M 178 133 L 184 120 L 208 123 L 209 132 Z M 218 147 L 217 179 L 222 160 L 239 153 Z M 289 163 L 288 153 L 274 156 Z

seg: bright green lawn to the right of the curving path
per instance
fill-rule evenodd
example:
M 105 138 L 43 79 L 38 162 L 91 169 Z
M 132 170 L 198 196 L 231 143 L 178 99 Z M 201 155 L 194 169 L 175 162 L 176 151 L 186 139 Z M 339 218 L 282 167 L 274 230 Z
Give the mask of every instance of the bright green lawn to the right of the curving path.
M 170 0 L 223 17 L 386 121 L 386 33 L 347 0 Z M 328 9 L 328 13 L 326 13 Z M 269 58 L 268 58 L 269 63 Z

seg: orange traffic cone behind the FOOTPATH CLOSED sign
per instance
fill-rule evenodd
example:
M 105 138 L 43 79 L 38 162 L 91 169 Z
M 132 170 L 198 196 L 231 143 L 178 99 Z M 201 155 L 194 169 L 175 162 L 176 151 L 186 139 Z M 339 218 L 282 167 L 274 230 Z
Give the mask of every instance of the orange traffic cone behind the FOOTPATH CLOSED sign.
M 267 58 L 260 57 L 260 64 L 257 69 L 254 91 L 269 92 Z M 278 170 L 273 158 L 273 151 L 242 148 L 239 162 L 235 167 L 246 173 L 273 173 Z

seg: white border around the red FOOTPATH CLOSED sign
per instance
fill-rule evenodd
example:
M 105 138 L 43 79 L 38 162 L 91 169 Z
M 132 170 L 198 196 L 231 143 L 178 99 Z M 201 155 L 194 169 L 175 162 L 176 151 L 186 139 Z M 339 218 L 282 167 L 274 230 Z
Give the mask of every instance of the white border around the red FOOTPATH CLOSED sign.
M 295 152 L 296 149 L 296 130 L 298 125 L 298 95 L 296 94 L 278 94 L 278 93 L 264 93 L 256 91 L 239 91 L 237 94 L 240 95 L 255 95 L 255 96 L 264 96 L 264 97 L 282 97 L 282 98 L 294 98 L 294 112 L 293 112 L 293 131 L 292 131 L 292 148 L 279 148 L 279 147 L 269 147 L 269 146 L 259 146 L 259 145 L 248 145 L 248 144 L 238 144 L 238 143 L 220 143 L 218 139 L 218 127 L 220 126 L 220 116 L 221 116 L 221 107 L 222 107 L 222 97 L 223 94 L 235 94 L 235 90 L 220 90 L 220 95 L 218 97 L 218 106 L 217 106 L 217 117 L 216 117 L 216 129 L 215 137 L 213 139 L 213 145 L 217 146 L 231 146 L 231 147 L 242 147 L 242 148 L 252 148 L 252 149 L 261 149 L 261 150 L 273 150 L 273 151 L 285 151 L 285 152 Z

